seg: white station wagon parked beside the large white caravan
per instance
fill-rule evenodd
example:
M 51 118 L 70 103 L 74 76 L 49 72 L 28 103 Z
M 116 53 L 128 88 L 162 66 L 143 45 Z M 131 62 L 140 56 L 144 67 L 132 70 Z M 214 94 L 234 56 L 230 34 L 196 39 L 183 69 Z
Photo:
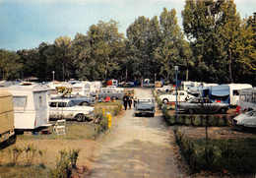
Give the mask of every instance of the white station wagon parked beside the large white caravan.
M 72 99 L 51 99 L 49 106 L 49 118 L 75 119 L 84 122 L 94 117 L 94 107 L 76 105 Z

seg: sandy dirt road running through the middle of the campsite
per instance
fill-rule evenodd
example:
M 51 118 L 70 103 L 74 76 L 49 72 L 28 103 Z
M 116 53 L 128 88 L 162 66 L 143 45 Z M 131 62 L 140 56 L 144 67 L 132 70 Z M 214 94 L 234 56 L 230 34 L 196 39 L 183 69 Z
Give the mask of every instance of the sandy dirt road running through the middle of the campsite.
M 138 98 L 153 97 L 151 89 L 135 89 Z M 169 132 L 155 117 L 134 117 L 123 111 L 118 126 L 103 139 L 90 177 L 185 177 L 173 158 Z

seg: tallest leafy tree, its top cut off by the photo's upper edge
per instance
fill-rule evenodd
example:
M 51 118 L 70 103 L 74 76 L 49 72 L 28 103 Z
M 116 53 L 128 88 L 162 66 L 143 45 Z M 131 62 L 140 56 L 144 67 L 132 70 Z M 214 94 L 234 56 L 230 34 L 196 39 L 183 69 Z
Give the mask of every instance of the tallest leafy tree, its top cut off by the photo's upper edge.
M 240 27 L 233 1 L 186 1 L 182 18 L 196 59 L 194 72 L 202 76 L 197 79 L 232 83 L 233 50 Z

